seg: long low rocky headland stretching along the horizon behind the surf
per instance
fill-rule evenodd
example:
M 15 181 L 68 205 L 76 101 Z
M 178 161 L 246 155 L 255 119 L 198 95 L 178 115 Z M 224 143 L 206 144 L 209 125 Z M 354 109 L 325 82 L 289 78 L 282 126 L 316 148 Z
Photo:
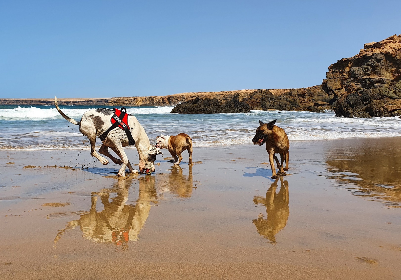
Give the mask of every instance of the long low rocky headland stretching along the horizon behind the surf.
M 166 96 L 112 97 L 98 99 L 60 98 L 59 105 L 84 106 L 169 106 L 172 113 L 239 113 L 249 110 L 329 109 L 332 96 L 325 84 L 302 89 L 245 89 L 200 93 L 178 93 Z M 203 102 L 205 101 L 205 102 Z M 54 105 L 54 99 L 0 99 L 0 105 Z M 217 107 L 221 107 L 218 109 Z

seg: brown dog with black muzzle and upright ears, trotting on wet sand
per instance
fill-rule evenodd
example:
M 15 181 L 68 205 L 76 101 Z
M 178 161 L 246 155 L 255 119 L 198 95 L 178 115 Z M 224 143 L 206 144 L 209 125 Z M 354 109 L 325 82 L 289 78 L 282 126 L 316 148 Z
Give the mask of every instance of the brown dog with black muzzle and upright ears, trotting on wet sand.
M 285 176 L 288 171 L 288 149 L 290 149 L 290 141 L 284 129 L 274 125 L 277 120 L 271 121 L 270 123 L 263 123 L 259 121 L 259 127 L 256 129 L 256 135 L 253 137 L 252 142 L 254 145 L 263 145 L 266 142 L 266 151 L 269 153 L 269 162 L 271 167 L 271 179 L 276 179 L 277 174 Z M 278 162 L 276 153 L 280 154 L 281 164 Z M 278 173 L 275 172 L 274 161 L 277 163 Z M 284 160 L 286 161 L 286 167 L 283 168 Z

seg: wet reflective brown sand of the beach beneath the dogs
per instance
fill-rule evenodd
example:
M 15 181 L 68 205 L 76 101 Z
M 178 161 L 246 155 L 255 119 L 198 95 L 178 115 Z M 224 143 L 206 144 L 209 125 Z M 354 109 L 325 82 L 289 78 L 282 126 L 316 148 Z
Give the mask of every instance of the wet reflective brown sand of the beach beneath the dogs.
M 0 151 L 0 279 L 399 279 L 400 144 L 293 141 L 277 180 L 253 145 L 128 179 L 89 150 Z

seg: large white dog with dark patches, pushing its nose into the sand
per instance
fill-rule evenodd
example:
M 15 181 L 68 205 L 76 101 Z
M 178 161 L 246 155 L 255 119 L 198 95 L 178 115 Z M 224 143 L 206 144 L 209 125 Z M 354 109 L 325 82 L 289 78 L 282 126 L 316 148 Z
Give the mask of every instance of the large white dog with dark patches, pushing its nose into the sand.
M 95 151 L 95 143 L 96 136 L 100 137 L 111 127 L 110 119 L 114 114 L 113 110 L 99 108 L 86 111 L 83 114 L 81 121 L 75 121 L 60 110 L 59 106 L 57 105 L 57 97 L 55 97 L 54 103 L 60 115 L 62 115 L 63 118 L 70 123 L 79 125 L 79 132 L 88 137 L 91 144 L 91 156 L 99 159 L 99 161 L 104 165 L 108 164 L 109 161 Z M 162 152 L 160 152 L 160 150 L 156 147 L 150 145 L 148 135 L 146 135 L 144 128 L 138 122 L 136 117 L 130 114 L 128 114 L 128 126 L 130 127 L 129 131 L 131 132 L 130 134 L 135 141 L 135 147 L 139 155 L 139 171 L 134 170 L 130 161 L 128 160 L 123 147 L 127 147 L 129 145 L 129 139 L 126 132 L 119 127 L 109 131 L 107 137 L 105 137 L 105 139 L 102 141 L 103 145 L 101 145 L 99 153 L 109 157 L 115 164 L 122 165 L 118 171 L 118 175 L 121 177 L 125 177 L 125 169 L 127 166 L 130 170 L 130 173 L 138 172 L 140 174 L 150 174 L 154 172 L 154 161 L 156 160 L 156 155 L 160 155 Z M 108 148 L 116 153 L 120 159 L 113 157 L 109 153 Z

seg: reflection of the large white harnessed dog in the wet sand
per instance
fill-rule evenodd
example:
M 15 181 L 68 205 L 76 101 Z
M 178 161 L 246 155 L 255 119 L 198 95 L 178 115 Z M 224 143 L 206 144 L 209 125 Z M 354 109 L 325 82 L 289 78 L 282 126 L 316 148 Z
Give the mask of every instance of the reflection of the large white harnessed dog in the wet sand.
M 149 216 L 151 203 L 156 200 L 155 178 L 148 175 L 139 181 L 139 197 L 135 205 L 126 204 L 132 180 L 118 180 L 113 188 L 92 193 L 90 211 L 81 214 L 79 220 L 68 222 L 65 228 L 59 230 L 54 240 L 55 244 L 67 230 L 79 226 L 85 239 L 113 242 L 117 246 L 128 247 L 128 241 L 138 239 L 139 232 Z M 96 212 L 98 197 L 104 207 L 101 212 Z

